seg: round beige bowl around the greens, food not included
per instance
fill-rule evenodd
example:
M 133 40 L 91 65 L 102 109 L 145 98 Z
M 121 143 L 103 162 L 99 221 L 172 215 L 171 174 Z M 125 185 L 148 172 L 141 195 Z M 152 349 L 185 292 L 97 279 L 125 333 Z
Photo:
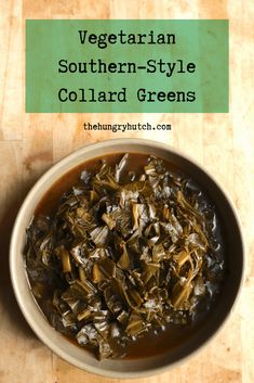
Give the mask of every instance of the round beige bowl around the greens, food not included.
M 156 155 L 175 164 L 190 175 L 213 201 L 220 216 L 226 242 L 227 278 L 214 308 L 204 323 L 185 342 L 152 357 L 135 359 L 106 359 L 98 361 L 92 354 L 76 346 L 55 331 L 40 311 L 31 295 L 25 265 L 25 228 L 42 196 L 52 184 L 76 166 L 89 159 L 111 153 L 145 153 Z M 10 246 L 10 269 L 17 303 L 27 322 L 38 337 L 55 354 L 68 362 L 89 372 L 110 378 L 141 378 L 163 372 L 203 347 L 222 328 L 239 295 L 243 280 L 244 251 L 237 213 L 215 179 L 193 159 L 166 144 L 143 139 L 116 139 L 84 146 L 49 169 L 34 186 L 16 217 Z

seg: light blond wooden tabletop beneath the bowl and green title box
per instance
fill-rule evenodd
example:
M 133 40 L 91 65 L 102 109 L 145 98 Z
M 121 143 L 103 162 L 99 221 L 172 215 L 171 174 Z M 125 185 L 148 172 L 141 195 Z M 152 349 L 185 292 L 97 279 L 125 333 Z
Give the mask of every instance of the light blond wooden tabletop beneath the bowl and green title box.
M 108 383 L 45 347 L 15 302 L 9 241 L 23 197 L 53 163 L 88 143 L 146 137 L 179 148 L 203 164 L 239 212 L 246 278 L 223 331 L 197 356 L 142 383 L 254 382 L 254 2 L 252 0 L 1 0 L 0 1 L 0 383 Z M 26 18 L 228 18 L 228 114 L 26 114 Z M 90 123 L 168 123 L 170 132 L 84 132 Z M 116 382 L 119 380 L 116 380 Z M 126 381 L 128 383 L 129 381 Z

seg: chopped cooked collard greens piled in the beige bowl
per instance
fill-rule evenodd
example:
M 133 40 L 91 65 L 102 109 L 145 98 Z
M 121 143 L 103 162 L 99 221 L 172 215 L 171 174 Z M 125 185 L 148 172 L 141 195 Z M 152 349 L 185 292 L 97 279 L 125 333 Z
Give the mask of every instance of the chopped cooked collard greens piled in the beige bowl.
M 214 207 L 193 181 L 149 156 L 141 171 L 83 170 L 51 216 L 27 229 L 31 291 L 52 325 L 99 359 L 169 323 L 189 325 L 219 291 Z

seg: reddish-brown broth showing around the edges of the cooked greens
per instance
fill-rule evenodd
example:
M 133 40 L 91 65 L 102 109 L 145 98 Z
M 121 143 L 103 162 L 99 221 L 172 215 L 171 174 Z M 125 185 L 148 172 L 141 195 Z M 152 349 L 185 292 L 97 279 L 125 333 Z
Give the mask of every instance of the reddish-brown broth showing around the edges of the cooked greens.
M 115 165 L 122 157 L 121 154 L 110 154 L 104 156 L 103 159 L 110 165 Z M 143 170 L 143 167 L 148 163 L 147 154 L 132 153 L 128 159 L 128 164 L 124 167 L 124 173 L 121 178 L 126 182 L 130 178 L 129 171 L 134 169 L 136 173 Z M 102 158 L 97 157 L 85 162 L 84 164 L 78 165 L 66 175 L 64 175 L 59 180 L 57 180 L 50 190 L 44 194 L 41 202 L 38 204 L 35 215 L 54 215 L 57 208 L 61 196 L 64 192 L 71 189 L 71 187 L 79 184 L 80 174 L 82 170 L 96 171 L 102 165 Z M 181 170 L 173 164 L 163 162 L 163 165 L 173 171 L 181 173 Z M 139 169 L 139 170 L 138 170 Z M 182 173 L 181 173 L 182 174 Z M 31 281 L 30 281 L 31 282 Z M 32 283 L 31 283 L 32 285 Z M 50 292 L 49 292 L 50 293 Z M 46 294 L 48 295 L 48 294 Z M 49 295 L 48 295 L 49 296 Z M 49 317 L 45 305 L 40 299 L 37 299 L 39 307 L 42 309 L 43 314 Z M 215 302 L 216 303 L 216 302 Z M 214 305 L 214 303 L 213 303 Z M 196 320 L 188 325 L 181 324 L 168 324 L 164 331 L 159 334 L 155 334 L 153 331 L 148 332 L 143 337 L 138 339 L 137 342 L 132 342 L 128 346 L 128 356 L 125 358 L 141 358 L 158 355 L 160 353 L 168 352 L 171 348 L 178 346 L 184 343 L 187 339 L 191 337 L 195 332 L 197 332 L 205 320 L 206 311 L 200 312 Z M 78 343 L 73 339 L 69 339 L 77 346 Z M 83 347 L 83 346 L 82 346 Z M 85 349 L 91 350 L 91 347 L 85 347 Z

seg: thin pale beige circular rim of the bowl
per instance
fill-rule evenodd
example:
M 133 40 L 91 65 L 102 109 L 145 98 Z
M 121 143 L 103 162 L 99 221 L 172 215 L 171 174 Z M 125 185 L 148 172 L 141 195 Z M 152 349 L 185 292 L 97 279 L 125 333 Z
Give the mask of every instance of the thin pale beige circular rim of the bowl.
M 158 150 L 164 150 L 165 152 L 170 152 L 173 155 L 176 155 L 178 157 L 183 157 L 184 159 L 186 159 L 187 162 L 191 163 L 195 165 L 195 167 L 197 167 L 198 169 L 201 169 L 203 173 L 206 174 L 206 176 L 212 180 L 212 182 L 215 184 L 215 187 L 219 190 L 219 192 L 224 195 L 225 200 L 227 201 L 229 208 L 231 209 L 231 213 L 233 214 L 233 217 L 236 219 L 236 224 L 238 226 L 239 229 L 239 239 L 241 242 L 241 248 L 242 248 L 242 270 L 241 270 L 241 276 L 240 276 L 240 282 L 239 282 L 239 286 L 238 286 L 238 291 L 236 293 L 236 296 L 233 298 L 233 303 L 231 305 L 231 309 L 230 312 L 232 311 L 232 309 L 236 307 L 236 304 L 239 299 L 240 296 L 240 292 L 242 291 L 242 286 L 244 283 L 244 278 L 245 278 L 245 244 L 244 244 L 244 238 L 243 238 L 243 228 L 242 228 L 242 224 L 241 220 L 239 218 L 238 212 L 231 201 L 231 197 L 228 195 L 227 191 L 225 191 L 225 189 L 218 183 L 218 181 L 214 178 L 213 175 L 211 175 L 210 171 L 208 171 L 201 164 L 199 164 L 196 159 L 193 159 L 192 157 L 190 157 L 189 155 L 186 155 L 185 153 L 183 153 L 181 150 L 166 144 L 166 143 L 162 143 L 159 141 L 153 141 L 153 140 L 147 140 L 147 139 L 134 139 L 134 138 L 120 138 L 120 139 L 107 139 L 107 140 L 102 140 L 99 142 L 95 142 L 95 143 L 90 143 L 88 145 L 84 145 L 73 152 L 71 152 L 70 154 L 64 156 L 62 159 L 57 161 L 55 164 L 53 164 L 36 182 L 35 184 L 31 187 L 31 189 L 29 190 L 29 192 L 27 193 L 26 197 L 24 199 L 18 214 L 16 216 L 14 226 L 13 226 L 13 230 L 12 230 L 12 234 L 11 234 L 11 242 L 10 242 L 10 257 L 9 257 L 9 261 L 10 261 L 10 275 L 11 275 L 11 282 L 12 282 L 12 286 L 14 290 L 14 295 L 16 297 L 17 304 L 23 312 L 23 316 L 25 317 L 26 321 L 28 322 L 28 324 L 30 325 L 30 328 L 32 329 L 32 331 L 35 332 L 35 334 L 40 339 L 40 341 L 45 344 L 50 349 L 52 349 L 56 355 L 58 355 L 61 358 L 63 358 L 64 360 L 70 362 L 71 365 L 73 365 L 75 367 L 78 367 L 80 369 L 83 369 L 88 372 L 97 374 L 97 375 L 102 375 L 102 376 L 106 376 L 106 378 L 117 378 L 117 379 L 133 379 L 133 378 L 145 378 L 145 376 L 150 376 L 153 374 L 158 374 L 158 373 L 162 373 L 164 371 L 168 371 L 178 365 L 181 365 L 183 361 L 186 361 L 189 358 L 192 358 L 195 355 L 197 355 L 200 350 L 203 349 L 203 347 L 205 347 L 208 345 L 208 343 L 210 343 L 216 335 L 217 333 L 224 328 L 225 323 L 228 321 L 230 315 L 227 315 L 223 321 L 220 322 L 220 324 L 218 325 L 217 329 L 215 329 L 215 331 L 213 331 L 212 334 L 209 335 L 209 337 L 201 344 L 198 346 L 198 348 L 196 348 L 195 350 L 191 350 L 190 354 L 181 357 L 178 360 L 175 360 L 173 362 L 171 362 L 170 365 L 164 365 L 162 367 L 158 367 L 158 368 L 151 368 L 148 370 L 144 370 L 144 371 L 115 371 L 115 370 L 104 370 L 103 368 L 101 369 L 99 367 L 94 367 L 91 365 L 86 365 L 85 361 L 83 361 L 82 363 L 77 361 L 72 356 L 70 356 L 69 354 L 66 354 L 65 352 L 63 352 L 53 341 L 51 341 L 50 339 L 46 339 L 43 336 L 43 334 L 41 333 L 39 327 L 37 325 L 37 323 L 32 320 L 31 316 L 29 316 L 29 312 L 26 309 L 26 303 L 25 299 L 23 298 L 23 294 L 22 291 L 18 288 L 18 283 L 17 283 L 17 279 L 16 279 L 16 271 L 15 271 L 15 259 L 16 259 L 16 252 L 15 252 L 15 247 L 16 247 L 16 238 L 17 238 L 17 233 L 21 230 L 21 225 L 19 222 L 22 221 L 23 216 L 25 215 L 25 212 L 27 209 L 27 207 L 30 204 L 30 200 L 32 200 L 32 196 L 36 195 L 37 191 L 40 189 L 40 186 L 44 183 L 45 180 L 48 180 L 49 178 L 51 178 L 53 175 L 57 174 L 57 171 L 61 171 L 61 169 L 63 169 L 69 162 L 71 162 L 71 159 L 75 159 L 76 157 L 79 157 L 80 154 L 82 154 L 84 151 L 85 152 L 94 152 L 96 149 L 106 149 L 108 146 L 111 146 L 112 144 L 115 146 L 119 145 L 119 144 L 135 144 L 135 145 L 145 145 L 145 146 L 149 146 L 149 148 L 156 148 Z M 123 151 L 121 151 L 123 152 Z M 120 153 L 120 152 L 119 152 Z M 95 158 L 96 156 L 93 156 L 93 158 Z M 88 161 L 88 159 L 86 159 Z M 85 163 L 85 161 L 84 161 Z M 72 166 L 71 168 L 75 168 L 77 166 L 77 164 L 75 166 Z M 70 169 L 71 169 L 70 168 Z M 63 177 L 64 174 L 67 174 L 69 170 L 65 170 L 63 174 L 61 173 L 58 178 L 56 178 L 54 180 L 54 182 L 59 179 L 61 177 Z M 53 183 L 54 183 L 53 182 Z M 52 183 L 52 184 L 53 184 Z M 43 195 L 45 194 L 45 191 L 40 195 L 40 199 L 43 197 Z M 36 302 L 35 302 L 36 305 Z M 38 308 L 39 309 L 39 308 Z

